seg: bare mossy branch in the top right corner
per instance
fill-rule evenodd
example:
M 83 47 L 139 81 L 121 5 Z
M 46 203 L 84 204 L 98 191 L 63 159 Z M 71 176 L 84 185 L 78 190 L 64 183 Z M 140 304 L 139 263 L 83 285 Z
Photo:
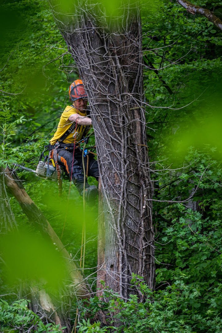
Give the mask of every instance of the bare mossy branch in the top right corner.
M 188 1 L 177 0 L 178 4 L 183 6 L 190 14 L 200 14 L 205 16 L 210 22 L 212 22 L 217 28 L 222 30 L 222 21 L 215 16 L 209 9 L 204 9 L 199 6 L 193 5 Z

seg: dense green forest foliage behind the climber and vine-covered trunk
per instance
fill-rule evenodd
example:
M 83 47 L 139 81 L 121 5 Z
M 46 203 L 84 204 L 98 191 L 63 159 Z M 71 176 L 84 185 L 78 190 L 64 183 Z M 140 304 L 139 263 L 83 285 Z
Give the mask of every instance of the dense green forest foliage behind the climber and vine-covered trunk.
M 222 18 L 219 1 L 194 1 Z M 123 332 L 221 332 L 221 31 L 203 16 L 186 12 L 176 1 L 148 2 L 141 10 L 144 52 L 144 90 L 148 150 L 154 184 L 156 287 L 148 290 L 135 277 L 147 301 L 136 296 L 123 302 L 112 296 L 102 304 L 107 315 L 119 312 Z M 2 167 L 13 163 L 35 169 L 44 145 L 52 137 L 59 117 L 69 105 L 69 84 L 79 78 L 75 63 L 57 29 L 46 1 L 5 1 L 0 14 L 1 156 Z M 94 141 L 91 139 L 91 143 Z M 33 201 L 62 235 L 79 262 L 82 238 L 82 201 L 74 186 L 57 184 L 17 170 Z M 92 178 L 91 184 L 96 183 Z M 188 199 L 189 198 L 189 199 Z M 188 199 L 188 200 L 186 200 Z M 186 200 L 185 202 L 177 202 Z M 171 202 L 172 201 L 172 202 Z M 176 201 L 176 202 L 174 202 Z M 5 235 L 2 225 L 0 308 L 1 332 L 10 332 L 32 313 L 19 301 L 21 283 L 44 278 L 56 294 L 63 268 L 41 242 L 18 202 L 10 205 L 18 237 Z M 6 230 L 7 229 L 7 230 Z M 5 251 L 7 249 L 7 251 Z M 52 256 L 51 256 L 52 255 Z M 7 269 L 6 265 L 7 263 Z M 95 291 L 97 266 L 97 207 L 87 212 L 85 275 Z M 150 298 L 152 301 L 150 302 Z M 79 332 L 101 332 L 92 325 L 101 303 L 94 297 L 78 304 Z M 76 306 L 68 316 L 74 324 Z M 26 315 L 25 315 L 26 314 Z M 17 320 L 17 324 L 15 323 Z M 24 320 L 24 319 L 23 319 Z M 33 320 L 33 319 L 32 319 Z M 37 320 L 37 319 L 36 319 Z M 38 321 L 38 320 L 37 320 Z M 38 332 L 59 331 L 38 321 Z M 28 326 L 27 326 L 28 327 Z M 41 328 L 42 327 L 42 328 Z M 91 327 L 91 328 L 90 328 Z M 116 329 L 110 328 L 110 331 Z

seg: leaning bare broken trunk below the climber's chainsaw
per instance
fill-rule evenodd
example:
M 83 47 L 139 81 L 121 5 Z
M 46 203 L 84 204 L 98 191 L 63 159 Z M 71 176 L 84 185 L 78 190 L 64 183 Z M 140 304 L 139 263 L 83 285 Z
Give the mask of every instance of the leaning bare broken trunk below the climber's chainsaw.
M 80 273 L 79 267 L 71 260 L 70 255 L 63 243 L 47 221 L 46 217 L 42 214 L 39 208 L 32 201 L 28 193 L 25 191 L 21 181 L 17 174 L 13 170 L 6 168 L 5 170 L 5 182 L 8 189 L 15 196 L 16 200 L 22 207 L 23 212 L 27 215 L 30 222 L 36 224 L 41 231 L 48 235 L 52 242 L 57 245 L 58 250 L 65 259 L 70 277 L 74 284 L 76 295 L 84 297 L 90 294 L 90 287 L 84 282 L 84 277 Z M 86 296 L 85 296 L 86 297 Z

